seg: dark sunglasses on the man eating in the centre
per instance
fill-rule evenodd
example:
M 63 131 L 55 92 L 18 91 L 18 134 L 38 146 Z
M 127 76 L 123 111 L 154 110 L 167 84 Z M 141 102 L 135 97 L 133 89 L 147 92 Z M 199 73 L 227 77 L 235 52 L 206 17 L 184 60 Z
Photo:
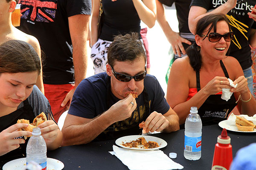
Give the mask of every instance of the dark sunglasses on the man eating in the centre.
M 117 73 L 113 68 L 112 66 L 111 67 L 111 70 L 112 70 L 112 73 L 114 74 L 114 76 L 116 77 L 116 79 L 118 79 L 119 81 L 121 82 L 129 82 L 131 81 L 131 79 L 134 79 L 136 82 L 138 81 L 141 81 L 143 80 L 146 75 L 147 75 L 147 69 L 145 67 L 145 71 L 141 74 L 137 74 L 135 76 L 128 76 L 128 75 L 125 75 L 125 74 L 121 74 L 121 73 Z

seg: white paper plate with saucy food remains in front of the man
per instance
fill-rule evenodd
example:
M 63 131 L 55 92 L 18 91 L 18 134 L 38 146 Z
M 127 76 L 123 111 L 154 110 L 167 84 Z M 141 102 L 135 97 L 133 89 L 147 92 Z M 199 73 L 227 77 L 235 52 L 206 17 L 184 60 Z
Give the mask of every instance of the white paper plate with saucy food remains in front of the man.
M 122 145 L 122 143 L 131 142 L 131 141 L 137 140 L 140 137 L 144 137 L 147 140 L 147 142 L 148 141 L 157 142 L 159 147 L 144 149 L 144 148 L 140 148 L 140 147 L 125 147 L 125 146 Z M 124 148 L 128 148 L 128 149 L 134 149 L 134 150 L 155 150 L 155 149 L 160 149 L 160 148 L 163 148 L 163 147 L 167 146 L 167 142 L 165 140 L 163 140 L 161 138 L 154 137 L 154 136 L 147 136 L 147 135 L 123 136 L 119 139 L 116 139 L 116 144 L 120 147 L 124 147 Z

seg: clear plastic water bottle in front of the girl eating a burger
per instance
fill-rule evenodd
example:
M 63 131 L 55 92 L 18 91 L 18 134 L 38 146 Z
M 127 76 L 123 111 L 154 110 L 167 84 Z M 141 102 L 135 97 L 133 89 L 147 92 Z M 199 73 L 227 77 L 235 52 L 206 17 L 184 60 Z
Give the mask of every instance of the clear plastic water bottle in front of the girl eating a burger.
M 42 170 L 47 170 L 46 152 L 47 147 L 41 136 L 41 129 L 39 127 L 34 128 L 26 147 L 26 164 L 34 161 L 42 167 Z

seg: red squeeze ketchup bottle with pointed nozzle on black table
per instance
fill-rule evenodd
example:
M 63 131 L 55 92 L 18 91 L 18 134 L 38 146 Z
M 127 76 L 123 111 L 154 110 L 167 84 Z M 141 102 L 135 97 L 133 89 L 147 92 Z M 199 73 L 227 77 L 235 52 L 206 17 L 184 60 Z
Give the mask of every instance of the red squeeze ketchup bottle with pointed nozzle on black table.
M 227 130 L 224 128 L 217 138 L 217 144 L 215 144 L 212 170 L 229 170 L 232 160 L 230 137 L 227 136 Z

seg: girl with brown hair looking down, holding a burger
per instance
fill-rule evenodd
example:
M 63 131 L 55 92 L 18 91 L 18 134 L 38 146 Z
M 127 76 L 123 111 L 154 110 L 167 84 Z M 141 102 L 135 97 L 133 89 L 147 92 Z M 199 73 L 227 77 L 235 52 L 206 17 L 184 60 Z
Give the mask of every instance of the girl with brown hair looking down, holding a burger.
M 47 149 L 58 148 L 62 133 L 53 121 L 48 100 L 35 85 L 41 71 L 41 62 L 34 48 L 20 40 L 10 40 L 0 45 L 0 160 L 25 157 L 30 131 L 19 131 L 28 124 L 17 124 L 18 119 L 31 123 L 41 112 L 47 121 L 38 127 Z

